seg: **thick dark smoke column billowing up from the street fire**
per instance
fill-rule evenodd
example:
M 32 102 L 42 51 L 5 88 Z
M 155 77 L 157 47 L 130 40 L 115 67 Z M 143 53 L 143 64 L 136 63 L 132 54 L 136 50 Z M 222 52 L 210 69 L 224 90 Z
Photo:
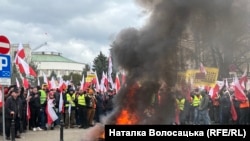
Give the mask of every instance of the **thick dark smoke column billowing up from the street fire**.
M 235 40 L 245 30 L 243 1 L 234 0 L 137 0 L 150 14 L 141 29 L 123 29 L 111 48 L 113 64 L 127 73 L 126 85 L 114 99 L 115 109 L 105 124 L 116 124 L 122 110 L 132 124 L 172 124 L 177 72 L 195 54 L 180 54 L 179 42 L 189 29 L 194 41 L 224 52 L 225 62 L 235 50 Z M 187 58 L 180 61 L 180 56 Z M 189 57 L 189 58 L 188 58 Z M 227 60 L 228 59 L 228 60 Z M 155 118 L 144 121 L 143 110 L 158 94 Z M 134 116 L 136 115 L 136 116 Z

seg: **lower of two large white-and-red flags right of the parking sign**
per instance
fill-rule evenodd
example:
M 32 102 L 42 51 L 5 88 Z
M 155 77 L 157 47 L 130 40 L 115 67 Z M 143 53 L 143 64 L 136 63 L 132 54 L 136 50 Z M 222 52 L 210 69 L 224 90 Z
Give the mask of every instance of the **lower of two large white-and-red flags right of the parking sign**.
M 20 73 L 25 73 L 26 75 L 32 75 L 36 77 L 36 72 L 29 66 L 27 62 L 24 61 L 24 59 L 18 57 L 18 67 Z

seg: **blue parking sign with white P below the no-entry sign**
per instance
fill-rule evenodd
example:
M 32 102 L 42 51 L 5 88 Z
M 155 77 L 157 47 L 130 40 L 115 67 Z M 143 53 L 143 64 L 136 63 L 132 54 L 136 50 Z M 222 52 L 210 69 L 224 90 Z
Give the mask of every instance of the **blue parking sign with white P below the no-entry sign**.
M 9 55 L 0 55 L 0 78 L 9 78 L 11 76 L 10 62 Z

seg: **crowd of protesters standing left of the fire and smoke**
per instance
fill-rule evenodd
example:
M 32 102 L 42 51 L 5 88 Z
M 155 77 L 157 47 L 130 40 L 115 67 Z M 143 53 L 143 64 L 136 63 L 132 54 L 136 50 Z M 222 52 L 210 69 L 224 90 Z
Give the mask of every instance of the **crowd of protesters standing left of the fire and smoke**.
M 61 95 L 62 94 L 62 95 Z M 74 89 L 73 85 L 60 91 L 48 89 L 46 84 L 30 88 L 18 88 L 11 85 L 4 88 L 5 103 L 5 136 L 10 140 L 11 122 L 15 121 L 15 137 L 21 138 L 21 134 L 31 131 L 53 130 L 60 127 L 86 129 L 97 122 L 101 117 L 112 110 L 112 98 L 115 90 L 99 93 L 92 88 L 86 90 Z M 60 95 L 63 99 L 63 110 L 59 112 Z M 57 119 L 48 123 L 46 105 L 51 101 Z M 29 110 L 27 110 L 27 105 Z M 28 114 L 27 114 L 28 113 Z M 29 115 L 29 116 L 27 116 Z M 0 134 L 3 134 L 3 112 L 0 108 Z

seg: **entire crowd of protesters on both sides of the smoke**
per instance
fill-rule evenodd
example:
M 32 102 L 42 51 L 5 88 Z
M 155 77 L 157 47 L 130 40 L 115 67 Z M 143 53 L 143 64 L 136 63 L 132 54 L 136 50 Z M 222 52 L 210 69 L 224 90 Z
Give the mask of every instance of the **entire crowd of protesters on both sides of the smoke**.
M 208 90 L 195 88 L 189 98 L 182 91 L 174 91 L 175 118 L 173 124 L 177 125 L 249 125 L 250 124 L 250 90 L 244 90 L 246 100 L 236 99 L 232 89 L 223 86 L 215 98 L 211 98 Z M 5 135 L 10 140 L 11 122 L 15 121 L 15 136 L 20 138 L 27 130 L 42 131 L 53 130 L 60 127 L 63 121 L 64 128 L 86 129 L 107 115 L 113 109 L 112 99 L 115 90 L 106 93 L 95 91 L 89 87 L 85 90 L 75 89 L 72 85 L 62 91 L 48 89 L 46 84 L 25 89 L 15 85 L 4 90 L 5 101 Z M 63 99 L 63 112 L 60 109 L 60 99 Z M 53 104 L 57 119 L 48 123 L 46 105 Z M 27 105 L 30 107 L 30 118 L 27 118 Z M 145 108 L 145 123 L 154 117 L 155 107 Z M 2 108 L 1 108 L 2 110 Z M 2 111 L 0 112 L 2 118 Z M 2 119 L 1 121 L 2 122 Z M 2 133 L 2 123 L 0 126 Z

